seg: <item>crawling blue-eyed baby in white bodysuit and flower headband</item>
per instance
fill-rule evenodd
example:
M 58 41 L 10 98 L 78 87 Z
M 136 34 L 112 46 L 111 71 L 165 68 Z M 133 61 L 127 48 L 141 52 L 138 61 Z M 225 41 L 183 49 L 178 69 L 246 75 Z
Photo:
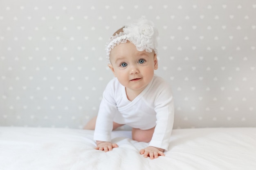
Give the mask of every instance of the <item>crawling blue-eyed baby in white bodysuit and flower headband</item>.
M 132 139 L 149 142 L 139 153 L 150 159 L 164 156 L 173 127 L 173 96 L 164 79 L 154 75 L 158 32 L 140 19 L 119 29 L 106 46 L 108 66 L 116 78 L 103 92 L 98 116 L 85 129 L 95 129 L 96 149 L 110 151 L 112 130 L 127 124 Z

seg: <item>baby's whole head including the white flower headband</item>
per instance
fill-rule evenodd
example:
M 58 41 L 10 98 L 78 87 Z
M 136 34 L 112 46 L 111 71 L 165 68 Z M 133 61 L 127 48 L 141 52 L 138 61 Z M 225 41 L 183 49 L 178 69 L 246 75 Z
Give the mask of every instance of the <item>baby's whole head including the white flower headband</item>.
M 157 62 L 157 29 L 139 20 L 115 32 L 106 47 L 108 66 L 127 89 L 140 92 L 153 79 Z

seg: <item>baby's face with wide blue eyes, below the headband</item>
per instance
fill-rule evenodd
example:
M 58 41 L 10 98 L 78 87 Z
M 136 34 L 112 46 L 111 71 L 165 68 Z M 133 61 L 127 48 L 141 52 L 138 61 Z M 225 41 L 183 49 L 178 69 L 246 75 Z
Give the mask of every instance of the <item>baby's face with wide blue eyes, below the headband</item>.
M 110 51 L 108 66 L 119 82 L 132 91 L 142 91 L 154 76 L 157 57 L 154 52 L 138 51 L 131 42 L 120 43 Z

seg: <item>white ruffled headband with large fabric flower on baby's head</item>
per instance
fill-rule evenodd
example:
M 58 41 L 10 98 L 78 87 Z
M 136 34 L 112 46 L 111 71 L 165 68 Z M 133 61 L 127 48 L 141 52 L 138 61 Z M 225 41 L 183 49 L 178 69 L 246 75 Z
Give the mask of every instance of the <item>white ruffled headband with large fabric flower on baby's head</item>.
M 109 60 L 109 55 L 111 49 L 120 43 L 126 43 L 127 40 L 132 42 L 138 51 L 144 51 L 151 53 L 153 50 L 157 55 L 157 38 L 158 31 L 155 28 L 153 22 L 140 19 L 135 23 L 128 24 L 124 27 L 123 32 L 111 36 L 107 46 L 107 59 Z

